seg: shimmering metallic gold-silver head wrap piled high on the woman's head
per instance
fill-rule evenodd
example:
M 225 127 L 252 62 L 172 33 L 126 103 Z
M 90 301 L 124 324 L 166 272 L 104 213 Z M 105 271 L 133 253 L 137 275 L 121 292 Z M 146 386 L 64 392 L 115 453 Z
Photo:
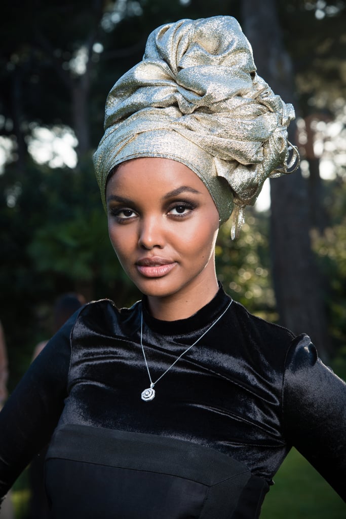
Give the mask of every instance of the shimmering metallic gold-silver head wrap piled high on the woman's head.
M 194 171 L 221 222 L 244 209 L 268 176 L 298 160 L 287 141 L 294 108 L 256 74 L 250 43 L 236 19 L 180 20 L 150 34 L 143 61 L 108 94 L 105 133 L 94 166 L 105 206 L 107 176 L 120 162 L 165 157 Z M 289 152 L 292 160 L 289 161 Z

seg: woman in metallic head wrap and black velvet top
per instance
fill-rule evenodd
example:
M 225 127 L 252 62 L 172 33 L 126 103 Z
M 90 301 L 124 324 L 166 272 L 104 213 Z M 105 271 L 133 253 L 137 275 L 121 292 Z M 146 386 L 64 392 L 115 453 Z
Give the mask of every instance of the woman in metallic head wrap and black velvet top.
M 94 157 L 110 240 L 144 296 L 84 306 L 38 356 L 1 416 L 2 494 L 53 433 L 58 518 L 258 517 L 292 445 L 346 498 L 345 384 L 215 274 L 220 223 L 233 212 L 235 237 L 296 159 L 293 117 L 233 18 L 149 36 Z

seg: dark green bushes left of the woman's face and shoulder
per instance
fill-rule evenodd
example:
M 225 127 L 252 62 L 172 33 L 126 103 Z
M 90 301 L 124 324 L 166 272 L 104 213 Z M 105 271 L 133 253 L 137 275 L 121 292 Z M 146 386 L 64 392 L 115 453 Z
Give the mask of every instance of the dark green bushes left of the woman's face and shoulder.
M 37 342 L 49 338 L 59 295 L 78 291 L 87 301 L 110 297 L 120 306 L 139 297 L 110 245 L 91 157 L 77 170 L 28 162 L 21 181 L 13 185 L 12 176 L 11 168 L 0 176 L 0 318 L 10 389 L 29 366 Z

